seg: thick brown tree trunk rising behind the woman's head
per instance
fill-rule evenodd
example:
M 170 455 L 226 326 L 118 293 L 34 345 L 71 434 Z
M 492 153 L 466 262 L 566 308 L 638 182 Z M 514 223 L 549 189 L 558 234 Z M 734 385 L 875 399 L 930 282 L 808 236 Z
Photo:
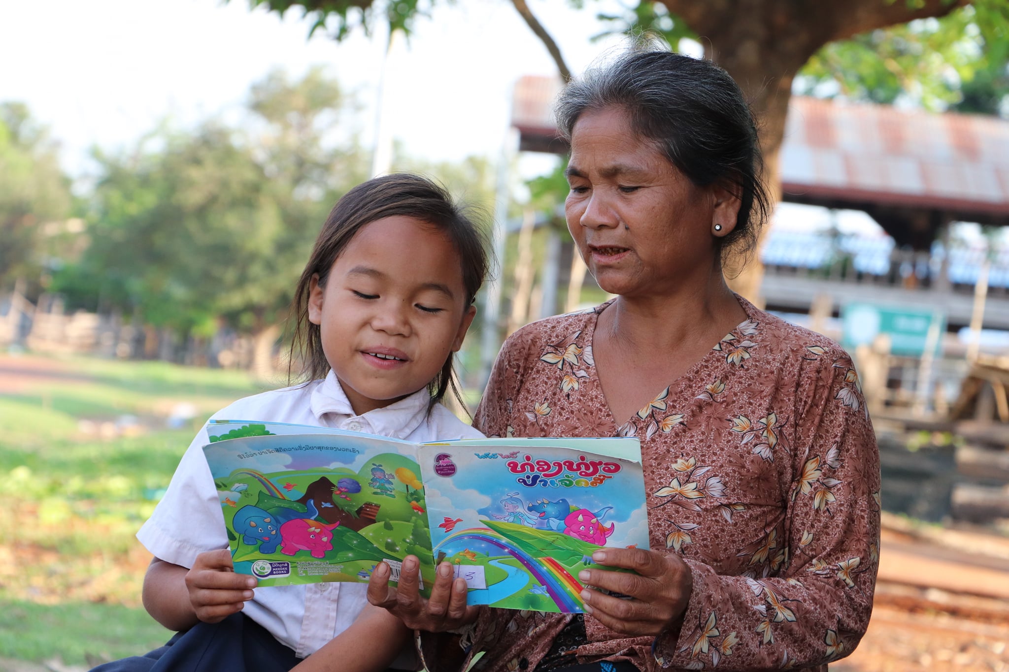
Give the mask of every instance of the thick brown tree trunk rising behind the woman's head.
M 704 44 L 704 55 L 725 69 L 753 108 L 764 152 L 764 179 L 781 199 L 779 150 L 785 135 L 792 81 L 827 42 L 912 19 L 944 16 L 967 0 L 662 0 Z M 740 294 L 760 301 L 764 268 L 758 240 L 753 259 L 730 280 Z M 730 275 L 732 275 L 730 267 Z

